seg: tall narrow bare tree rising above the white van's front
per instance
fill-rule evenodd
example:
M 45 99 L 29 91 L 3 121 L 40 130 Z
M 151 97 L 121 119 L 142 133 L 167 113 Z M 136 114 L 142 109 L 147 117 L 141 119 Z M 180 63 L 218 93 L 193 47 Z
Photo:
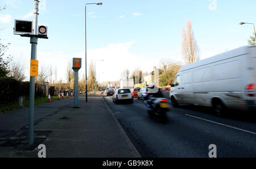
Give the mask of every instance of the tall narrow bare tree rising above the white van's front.
M 187 31 L 185 28 L 182 30 L 182 53 L 186 64 L 192 64 L 193 62 L 199 61 L 199 47 L 197 47 L 196 39 L 192 30 L 191 21 L 187 21 Z

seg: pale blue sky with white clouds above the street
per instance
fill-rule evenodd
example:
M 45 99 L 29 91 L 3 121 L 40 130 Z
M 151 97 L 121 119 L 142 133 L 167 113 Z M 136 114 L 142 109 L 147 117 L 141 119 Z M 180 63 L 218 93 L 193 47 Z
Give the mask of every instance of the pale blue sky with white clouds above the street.
M 67 63 L 73 57 L 84 62 L 84 5 L 98 1 L 41 0 L 39 24 L 48 26 L 48 40 L 39 40 L 39 65 L 57 67 L 57 78 L 65 80 Z M 192 22 L 201 59 L 247 45 L 256 24 L 255 0 L 102 0 L 102 6 L 88 5 L 86 12 L 88 63 L 97 62 L 98 79 L 114 81 L 121 72 L 139 67 L 150 71 L 160 60 L 182 62 L 181 31 Z M 216 2 L 214 9 L 209 5 Z M 14 19 L 32 20 L 32 0 L 2 0 L 0 36 L 10 42 L 9 53 L 29 72 L 29 39 L 13 35 Z M 210 6 L 212 7 L 212 6 Z

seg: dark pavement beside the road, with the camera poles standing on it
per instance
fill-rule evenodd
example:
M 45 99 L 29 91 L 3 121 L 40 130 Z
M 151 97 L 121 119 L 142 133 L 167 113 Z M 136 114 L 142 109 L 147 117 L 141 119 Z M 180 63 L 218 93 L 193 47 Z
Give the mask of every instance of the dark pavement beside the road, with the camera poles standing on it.
M 36 105 L 34 145 L 28 146 L 28 108 L 0 114 L 0 157 L 140 158 L 122 126 L 99 93 Z

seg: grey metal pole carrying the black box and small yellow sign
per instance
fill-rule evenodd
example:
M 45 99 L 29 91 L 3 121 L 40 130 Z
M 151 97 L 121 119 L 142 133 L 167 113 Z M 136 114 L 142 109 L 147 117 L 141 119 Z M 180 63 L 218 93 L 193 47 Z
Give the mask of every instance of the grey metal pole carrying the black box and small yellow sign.
M 34 12 L 34 35 L 38 34 L 38 7 L 39 1 L 35 0 Z M 36 60 L 38 37 L 32 36 L 31 43 L 31 60 Z M 30 77 L 30 105 L 28 113 L 28 145 L 34 143 L 34 109 L 35 109 L 35 77 Z

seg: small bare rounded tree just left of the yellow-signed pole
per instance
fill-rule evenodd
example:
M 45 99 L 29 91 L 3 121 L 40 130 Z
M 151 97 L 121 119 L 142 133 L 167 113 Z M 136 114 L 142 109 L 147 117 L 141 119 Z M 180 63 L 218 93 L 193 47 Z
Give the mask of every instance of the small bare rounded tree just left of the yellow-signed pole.
M 9 75 L 10 77 L 16 79 L 16 81 L 24 81 L 24 79 L 26 78 L 24 64 L 22 64 L 21 61 L 12 61 L 10 64 Z

